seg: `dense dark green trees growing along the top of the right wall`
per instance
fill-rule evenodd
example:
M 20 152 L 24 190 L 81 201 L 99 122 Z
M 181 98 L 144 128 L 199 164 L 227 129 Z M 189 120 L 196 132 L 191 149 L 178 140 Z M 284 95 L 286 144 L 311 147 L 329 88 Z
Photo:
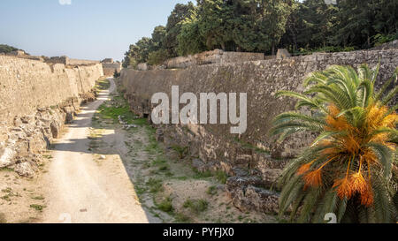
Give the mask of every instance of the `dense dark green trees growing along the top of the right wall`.
M 398 38 L 398 2 L 389 0 L 197 0 L 176 4 L 126 52 L 124 66 L 224 49 L 296 54 L 369 49 Z

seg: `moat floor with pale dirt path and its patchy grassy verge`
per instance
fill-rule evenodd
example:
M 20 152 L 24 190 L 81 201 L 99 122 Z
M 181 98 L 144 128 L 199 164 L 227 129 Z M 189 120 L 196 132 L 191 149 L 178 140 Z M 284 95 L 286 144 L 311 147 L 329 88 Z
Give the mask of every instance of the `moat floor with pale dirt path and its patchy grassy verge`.
M 43 208 L 35 210 L 36 222 L 276 221 L 234 207 L 226 174 L 198 172 L 193 157 L 180 154 L 183 147 L 157 142 L 156 130 L 116 88 L 111 79 L 110 91 L 82 109 L 52 146 L 38 179 L 43 199 L 34 204 Z

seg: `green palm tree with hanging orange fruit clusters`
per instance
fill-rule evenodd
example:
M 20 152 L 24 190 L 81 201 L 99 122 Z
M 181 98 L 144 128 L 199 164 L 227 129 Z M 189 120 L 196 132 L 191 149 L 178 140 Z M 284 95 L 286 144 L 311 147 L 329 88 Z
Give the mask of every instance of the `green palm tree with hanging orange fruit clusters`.
M 296 132 L 318 134 L 280 177 L 281 217 L 289 211 L 291 222 L 324 222 L 328 213 L 338 222 L 396 222 L 398 105 L 391 105 L 398 68 L 376 92 L 378 73 L 379 65 L 363 64 L 358 72 L 335 65 L 305 79 L 303 94 L 279 92 L 310 114 L 279 115 L 271 134 L 279 141 Z

